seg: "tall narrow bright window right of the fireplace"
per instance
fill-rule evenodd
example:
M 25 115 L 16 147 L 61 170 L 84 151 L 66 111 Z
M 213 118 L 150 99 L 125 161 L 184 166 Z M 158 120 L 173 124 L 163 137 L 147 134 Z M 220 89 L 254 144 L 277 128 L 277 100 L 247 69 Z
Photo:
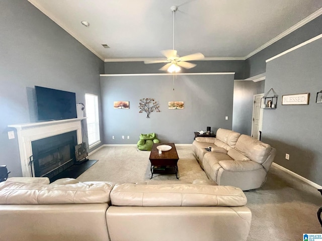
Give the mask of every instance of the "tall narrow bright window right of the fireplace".
M 89 146 L 99 143 L 100 140 L 100 120 L 98 97 L 94 94 L 85 94 L 87 132 L 89 135 Z

